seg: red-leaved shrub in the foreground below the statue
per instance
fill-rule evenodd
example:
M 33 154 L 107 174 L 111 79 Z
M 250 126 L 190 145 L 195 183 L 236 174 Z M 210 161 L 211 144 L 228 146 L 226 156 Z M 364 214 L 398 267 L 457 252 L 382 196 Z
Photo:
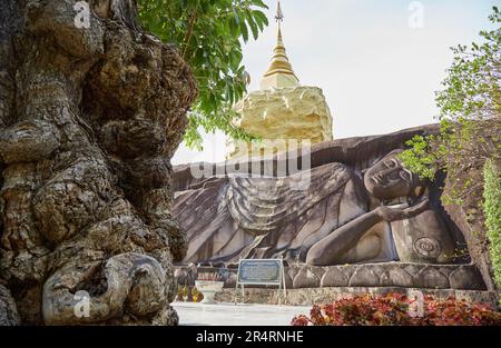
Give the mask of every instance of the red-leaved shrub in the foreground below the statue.
M 405 295 L 387 294 L 384 296 L 354 296 L 330 305 L 313 306 L 307 316 L 296 316 L 293 326 L 307 325 L 405 325 L 405 326 L 443 326 L 443 325 L 501 325 L 501 314 L 488 305 L 469 304 L 464 300 L 449 298 L 435 300 L 425 296 L 422 311 L 410 311 L 418 308 Z

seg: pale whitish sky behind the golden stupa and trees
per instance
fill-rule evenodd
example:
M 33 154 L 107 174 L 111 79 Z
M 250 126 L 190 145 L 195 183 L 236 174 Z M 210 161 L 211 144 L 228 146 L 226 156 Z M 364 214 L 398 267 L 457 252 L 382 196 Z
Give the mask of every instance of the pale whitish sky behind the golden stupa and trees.
M 258 89 L 275 46 L 276 0 L 265 2 L 269 27 L 244 47 L 249 91 Z M 422 28 L 415 28 L 419 3 Z M 284 43 L 301 84 L 323 89 L 335 139 L 386 133 L 434 122 L 449 48 L 479 41 L 479 31 L 492 28 L 493 6 L 501 1 L 282 0 Z M 206 135 L 204 151 L 181 145 L 173 163 L 224 156 L 225 136 Z

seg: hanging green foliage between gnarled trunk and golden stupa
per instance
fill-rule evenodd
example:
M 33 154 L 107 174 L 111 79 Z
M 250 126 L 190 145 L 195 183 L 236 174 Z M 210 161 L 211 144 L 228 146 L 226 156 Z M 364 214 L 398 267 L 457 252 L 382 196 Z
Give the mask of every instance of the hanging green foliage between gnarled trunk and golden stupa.
M 242 43 L 257 39 L 268 20 L 262 0 L 138 0 L 144 28 L 177 46 L 198 81 L 199 97 L 188 115 L 185 142 L 202 148 L 198 129 L 233 138 L 252 135 L 234 126 L 232 107 L 246 91 Z

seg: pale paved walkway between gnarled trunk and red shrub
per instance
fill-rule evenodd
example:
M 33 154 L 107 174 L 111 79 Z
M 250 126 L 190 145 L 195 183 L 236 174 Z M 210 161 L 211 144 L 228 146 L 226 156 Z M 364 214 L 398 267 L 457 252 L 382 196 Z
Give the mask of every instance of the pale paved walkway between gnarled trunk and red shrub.
M 179 325 L 186 326 L 288 326 L 294 316 L 310 314 L 311 307 L 269 305 L 202 305 L 174 302 Z

